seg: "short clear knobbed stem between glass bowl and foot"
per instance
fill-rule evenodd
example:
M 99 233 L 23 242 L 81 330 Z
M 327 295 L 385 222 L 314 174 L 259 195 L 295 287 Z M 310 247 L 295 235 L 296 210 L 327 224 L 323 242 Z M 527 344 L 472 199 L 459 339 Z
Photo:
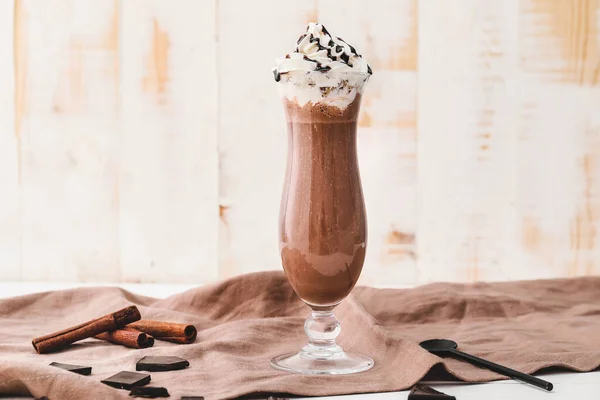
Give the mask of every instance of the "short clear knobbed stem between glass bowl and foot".
M 331 358 L 343 355 L 342 348 L 335 343 L 341 329 L 340 321 L 332 310 L 313 310 L 304 323 L 308 344 L 302 349 L 302 354 L 309 358 Z

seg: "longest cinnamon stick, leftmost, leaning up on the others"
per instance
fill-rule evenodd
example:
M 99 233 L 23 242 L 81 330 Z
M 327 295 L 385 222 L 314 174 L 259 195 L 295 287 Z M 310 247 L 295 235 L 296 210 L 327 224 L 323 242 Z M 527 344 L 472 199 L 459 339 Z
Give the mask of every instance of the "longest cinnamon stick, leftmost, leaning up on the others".
M 129 306 L 83 324 L 34 338 L 31 344 L 33 344 L 33 348 L 38 354 L 51 353 L 79 340 L 122 328 L 131 322 L 138 321 L 140 318 L 140 311 L 137 307 Z

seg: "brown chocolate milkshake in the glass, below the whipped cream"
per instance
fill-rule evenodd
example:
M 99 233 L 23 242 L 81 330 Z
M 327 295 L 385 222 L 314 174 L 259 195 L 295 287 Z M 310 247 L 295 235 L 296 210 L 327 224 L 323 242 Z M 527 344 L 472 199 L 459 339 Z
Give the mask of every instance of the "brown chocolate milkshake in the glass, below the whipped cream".
M 365 259 L 367 226 L 356 158 L 360 95 L 343 111 L 284 99 L 288 157 L 280 211 L 283 268 L 306 303 L 342 301 Z

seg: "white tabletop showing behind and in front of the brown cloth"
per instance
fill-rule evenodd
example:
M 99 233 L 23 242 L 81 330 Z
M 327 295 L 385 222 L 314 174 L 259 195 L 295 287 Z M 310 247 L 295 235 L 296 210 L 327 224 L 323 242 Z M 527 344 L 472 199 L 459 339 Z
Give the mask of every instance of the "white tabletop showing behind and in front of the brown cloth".
M 69 289 L 81 286 L 119 286 L 133 293 L 151 297 L 167 297 L 192 285 L 159 285 L 159 284 L 80 284 L 56 282 L 0 282 L 0 298 L 20 296 L 24 294 L 49 290 Z M 455 396 L 457 400 L 538 400 L 538 399 L 589 399 L 600 400 L 600 370 L 588 373 L 559 372 L 543 375 L 543 378 L 554 384 L 552 392 L 546 392 L 516 381 L 490 382 L 485 384 L 464 383 L 427 383 L 431 387 L 446 394 Z M 392 393 L 372 393 L 348 396 L 320 397 L 330 400 L 402 400 L 408 398 L 408 391 Z M 315 398 L 312 398 L 315 399 Z

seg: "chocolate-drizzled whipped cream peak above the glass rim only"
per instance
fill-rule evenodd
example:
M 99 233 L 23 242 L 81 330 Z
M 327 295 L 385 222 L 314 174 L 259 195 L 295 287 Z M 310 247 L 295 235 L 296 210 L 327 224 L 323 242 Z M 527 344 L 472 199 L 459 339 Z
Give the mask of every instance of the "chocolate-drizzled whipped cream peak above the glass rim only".
M 292 71 L 373 73 L 353 46 L 331 35 L 323 25 L 315 22 L 308 24 L 294 52 L 278 58 L 275 64 L 273 74 L 277 82 L 282 74 Z

